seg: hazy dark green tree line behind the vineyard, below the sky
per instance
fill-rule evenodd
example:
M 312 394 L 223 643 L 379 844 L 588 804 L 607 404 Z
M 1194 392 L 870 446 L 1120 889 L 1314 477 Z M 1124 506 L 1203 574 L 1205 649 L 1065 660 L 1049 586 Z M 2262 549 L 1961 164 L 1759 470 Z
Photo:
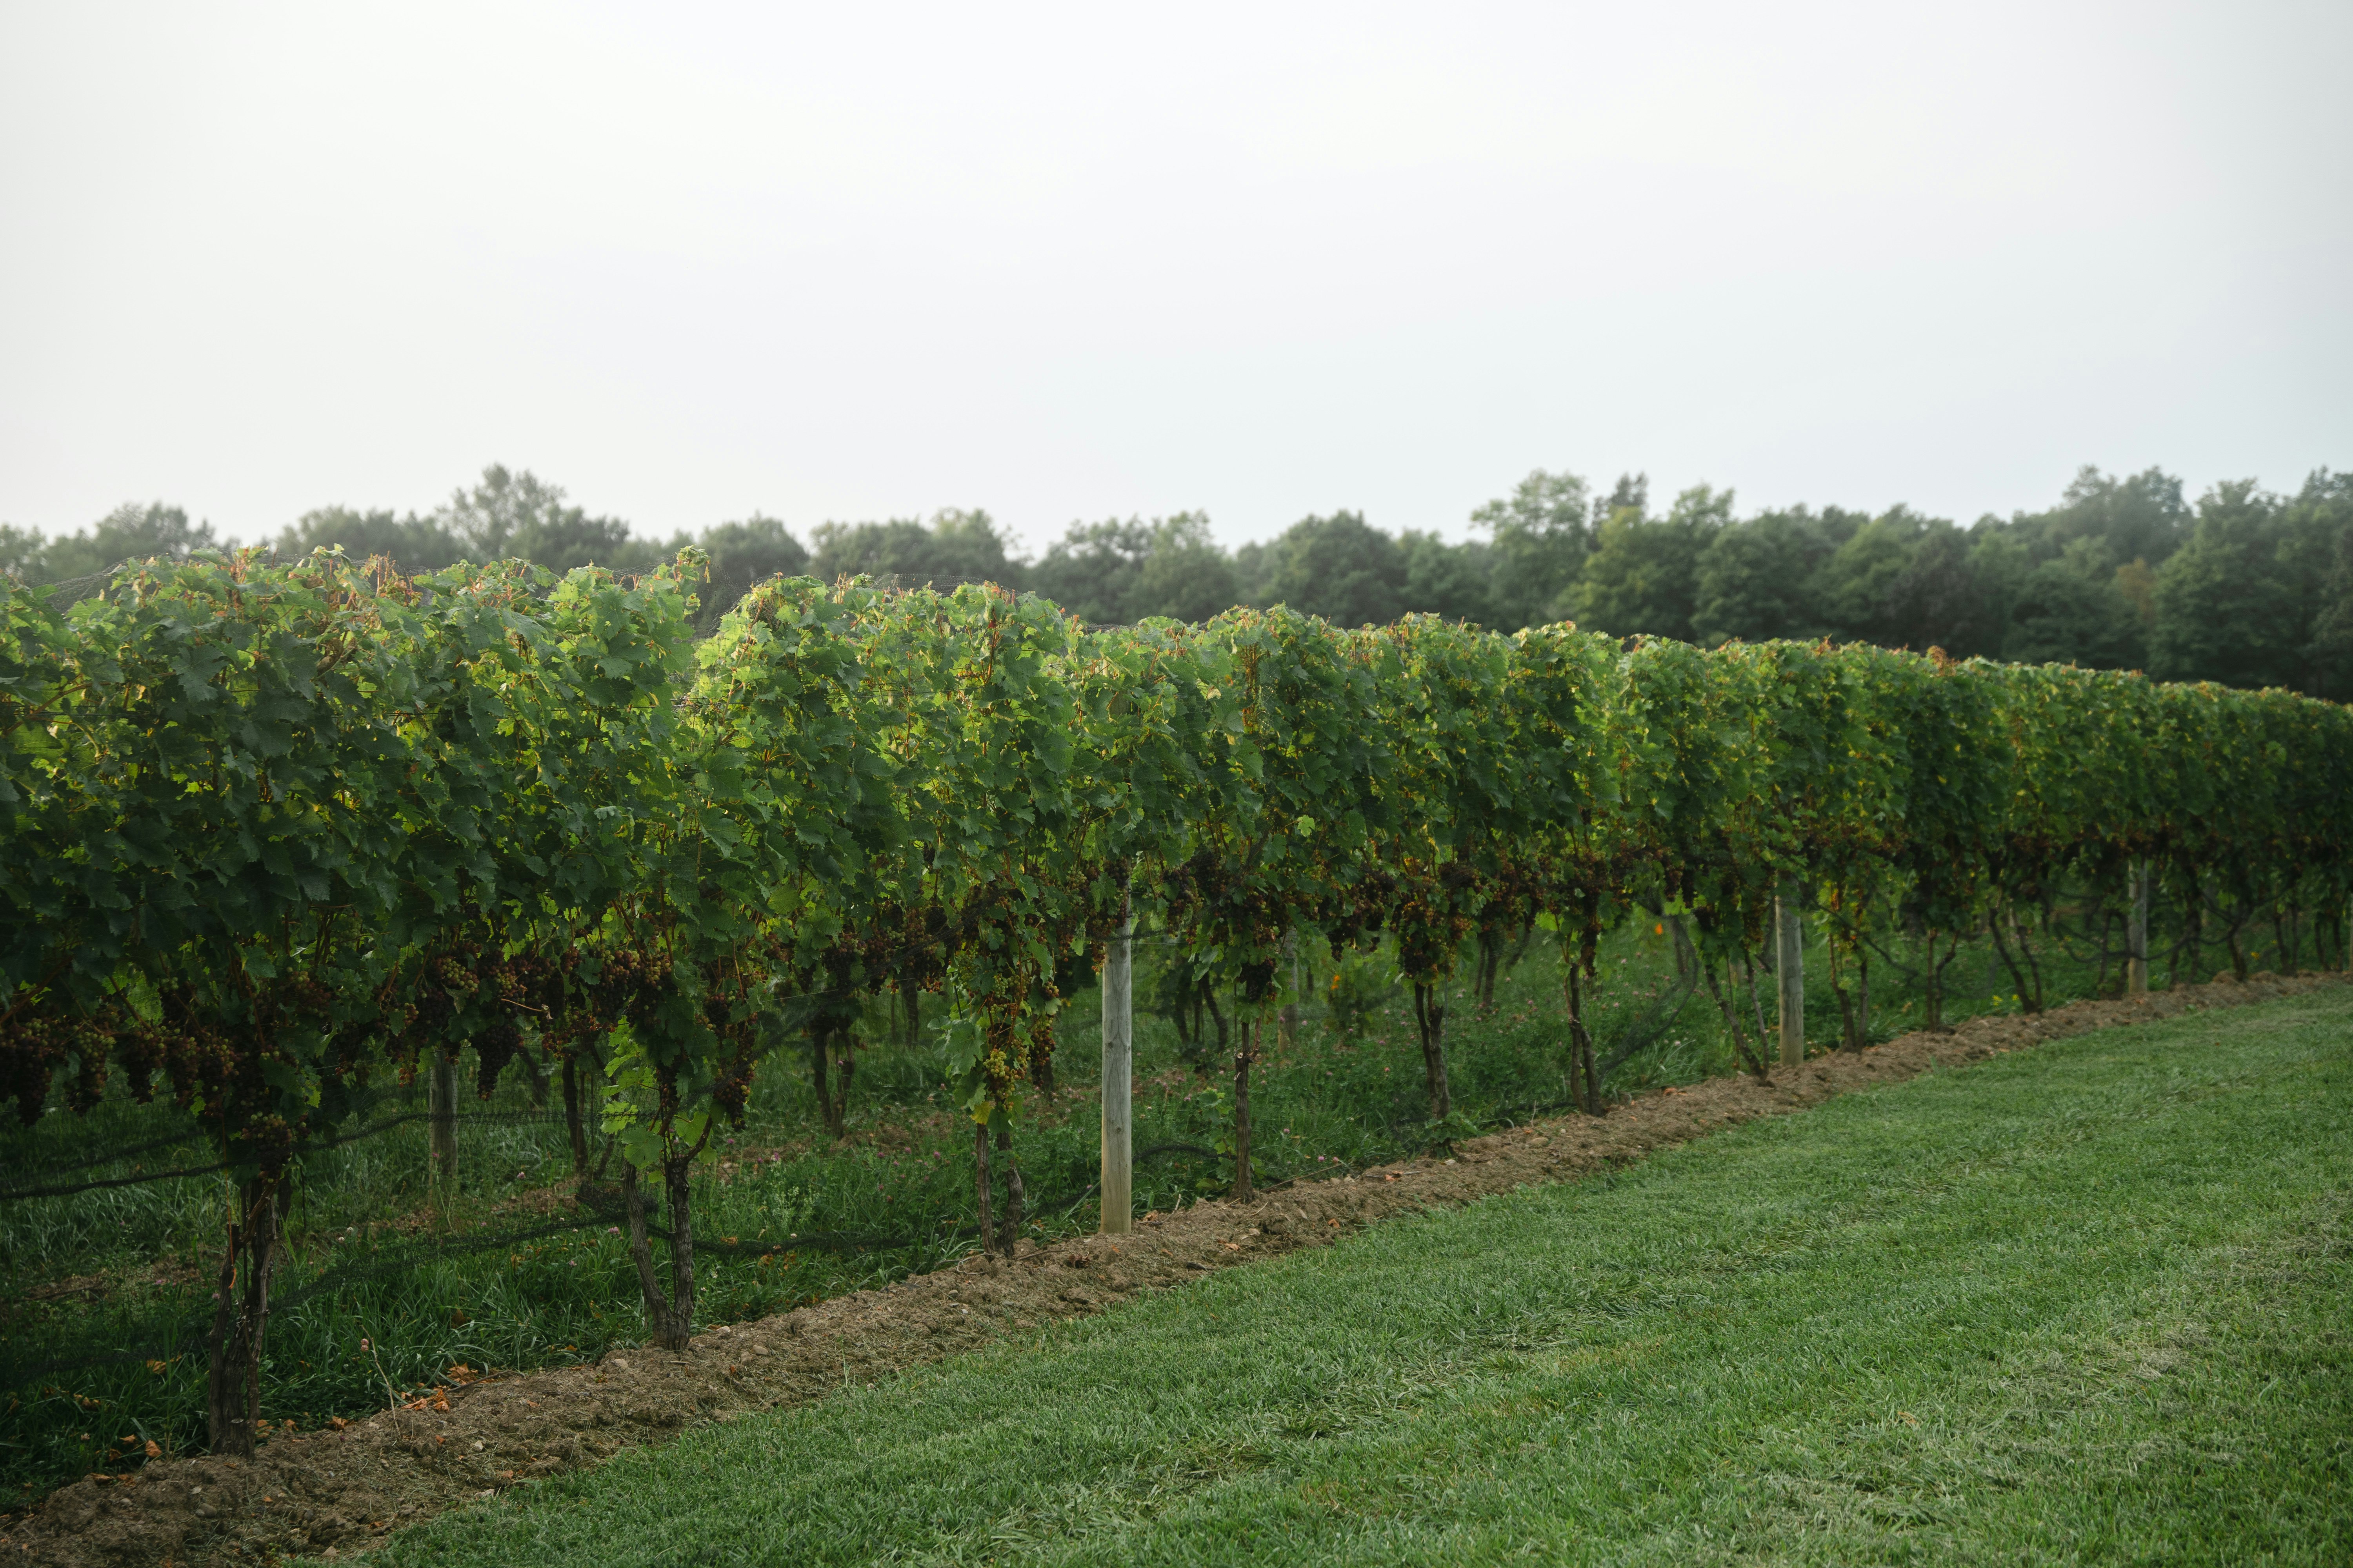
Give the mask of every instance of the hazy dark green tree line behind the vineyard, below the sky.
M 1405 614 L 1504 632 L 1577 621 L 1699 646 L 1828 637 L 2353 698 L 2353 473 L 2313 470 L 2294 494 L 2233 480 L 2191 503 L 2181 480 L 2158 468 L 2129 477 L 2085 468 L 2047 510 L 1958 527 L 1906 505 L 1739 517 L 1734 494 L 1706 484 L 1659 510 L 1642 475 L 1600 491 L 1572 473 L 1537 470 L 1475 508 L 1471 527 L 1464 541 L 1388 534 L 1337 510 L 1226 550 L 1202 512 L 1108 517 L 1073 522 L 1026 559 L 986 510 L 946 508 L 821 522 L 807 541 L 758 512 L 654 541 L 527 470 L 492 465 L 433 512 L 332 505 L 273 543 L 282 557 L 386 555 L 405 571 L 529 559 L 621 574 L 696 545 L 711 562 L 699 630 L 779 574 L 868 574 L 1031 590 L 1092 625 L 1207 621 L 1271 604 L 1337 625 Z M 125 505 L 61 538 L 0 527 L 0 571 L 87 583 L 125 559 L 176 559 L 221 543 L 184 508 Z

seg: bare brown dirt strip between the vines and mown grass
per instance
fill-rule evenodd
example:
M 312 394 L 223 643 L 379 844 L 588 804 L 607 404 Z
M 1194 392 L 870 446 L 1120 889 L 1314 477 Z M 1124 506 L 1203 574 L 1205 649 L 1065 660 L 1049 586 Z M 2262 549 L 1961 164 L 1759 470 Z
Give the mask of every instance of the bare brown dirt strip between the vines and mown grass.
M 1327 1246 L 1384 1215 L 1466 1204 L 1527 1182 L 1569 1180 L 1753 1117 L 1821 1105 L 1939 1065 L 2193 1009 L 2271 1001 L 2341 976 L 2217 980 L 2139 1001 L 2075 1001 L 2021 1018 L 1977 1018 L 1748 1077 L 1666 1088 L 1607 1117 L 1565 1117 L 1431 1157 L 1271 1190 L 1254 1204 L 1198 1204 L 1146 1218 L 1129 1237 L 1082 1237 L 1012 1262 L 951 1269 L 699 1335 L 687 1352 L 614 1352 L 586 1366 L 454 1380 L 435 1396 L 341 1429 L 287 1434 L 252 1460 L 151 1460 L 59 1488 L 0 1514 L 0 1563 L 200 1568 L 285 1554 L 351 1556 L 445 1507 L 581 1469 L 633 1443 L 809 1403 L 845 1382 L 951 1356 L 1045 1319 L 1101 1312 L 1252 1258 Z

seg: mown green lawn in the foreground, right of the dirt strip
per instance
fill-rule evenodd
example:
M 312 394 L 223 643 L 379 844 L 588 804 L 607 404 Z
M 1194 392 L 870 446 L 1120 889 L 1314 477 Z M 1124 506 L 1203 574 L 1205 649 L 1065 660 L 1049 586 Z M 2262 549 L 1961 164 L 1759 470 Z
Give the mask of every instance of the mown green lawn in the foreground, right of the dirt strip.
M 386 1563 L 2346 1563 L 2353 987 L 1379 1225 Z

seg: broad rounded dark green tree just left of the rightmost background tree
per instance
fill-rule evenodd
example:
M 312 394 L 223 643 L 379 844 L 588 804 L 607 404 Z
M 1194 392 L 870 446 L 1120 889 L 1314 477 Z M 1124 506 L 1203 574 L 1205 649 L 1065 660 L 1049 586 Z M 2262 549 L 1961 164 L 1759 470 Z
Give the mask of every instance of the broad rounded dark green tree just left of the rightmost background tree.
M 2280 559 L 2280 501 L 2254 480 L 2198 498 L 2198 527 L 2158 569 L 2148 672 L 2231 686 L 2292 686 L 2304 672 L 2299 592 Z

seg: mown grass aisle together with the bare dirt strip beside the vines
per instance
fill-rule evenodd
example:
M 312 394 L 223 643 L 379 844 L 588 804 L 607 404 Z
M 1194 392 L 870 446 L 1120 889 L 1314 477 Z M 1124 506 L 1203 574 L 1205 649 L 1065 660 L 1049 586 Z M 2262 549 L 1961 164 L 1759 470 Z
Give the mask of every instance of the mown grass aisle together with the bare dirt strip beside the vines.
M 2353 987 L 2195 992 L 967 1260 L 7 1533 L 66 1563 L 2346 1561 Z

